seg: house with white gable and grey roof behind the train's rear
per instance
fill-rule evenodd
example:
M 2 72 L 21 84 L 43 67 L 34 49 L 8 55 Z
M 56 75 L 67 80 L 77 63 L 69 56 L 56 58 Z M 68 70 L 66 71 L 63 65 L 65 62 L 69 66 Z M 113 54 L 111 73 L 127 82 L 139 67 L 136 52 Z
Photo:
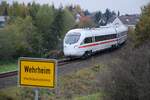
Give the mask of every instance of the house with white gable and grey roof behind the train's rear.
M 139 21 L 139 15 L 122 15 L 119 17 L 112 17 L 108 20 L 109 23 L 116 23 L 117 21 L 121 24 L 128 26 L 129 28 L 135 28 L 137 22 Z

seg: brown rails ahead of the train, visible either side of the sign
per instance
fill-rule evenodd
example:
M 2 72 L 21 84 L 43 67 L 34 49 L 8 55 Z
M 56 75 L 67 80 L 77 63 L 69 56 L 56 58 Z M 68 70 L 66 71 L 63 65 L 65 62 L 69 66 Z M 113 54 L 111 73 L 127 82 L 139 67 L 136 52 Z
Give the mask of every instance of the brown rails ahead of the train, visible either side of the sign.
M 69 62 L 69 59 L 63 59 L 63 60 L 58 60 L 58 66 L 62 66 L 62 65 L 66 65 Z M 18 74 L 18 71 L 10 71 L 10 72 L 4 72 L 4 73 L 0 73 L 0 78 L 7 78 L 7 77 L 12 77 L 12 76 L 16 76 Z

